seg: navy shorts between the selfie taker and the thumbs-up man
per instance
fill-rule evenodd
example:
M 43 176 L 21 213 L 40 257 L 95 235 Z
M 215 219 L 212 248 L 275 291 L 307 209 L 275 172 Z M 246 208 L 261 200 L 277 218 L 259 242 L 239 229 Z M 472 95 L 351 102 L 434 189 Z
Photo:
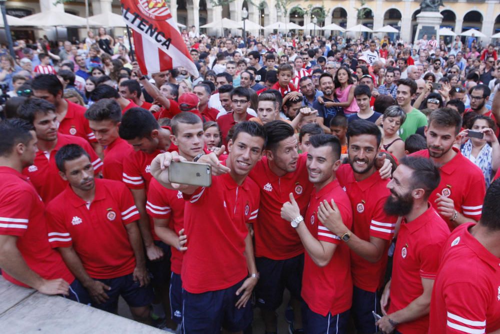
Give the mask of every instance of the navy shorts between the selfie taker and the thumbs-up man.
M 255 258 L 260 279 L 255 287 L 256 305 L 264 310 L 274 311 L 283 302 L 284 289 L 301 301 L 302 272 L 304 255 L 300 254 L 287 260 Z

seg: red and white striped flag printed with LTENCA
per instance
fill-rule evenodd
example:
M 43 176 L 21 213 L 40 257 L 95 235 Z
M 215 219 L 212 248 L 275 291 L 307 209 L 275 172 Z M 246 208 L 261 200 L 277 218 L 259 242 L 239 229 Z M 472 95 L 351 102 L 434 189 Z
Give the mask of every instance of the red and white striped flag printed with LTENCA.
M 199 75 L 165 0 L 120 2 L 121 15 L 132 29 L 134 51 L 142 73 L 183 66 L 192 75 Z

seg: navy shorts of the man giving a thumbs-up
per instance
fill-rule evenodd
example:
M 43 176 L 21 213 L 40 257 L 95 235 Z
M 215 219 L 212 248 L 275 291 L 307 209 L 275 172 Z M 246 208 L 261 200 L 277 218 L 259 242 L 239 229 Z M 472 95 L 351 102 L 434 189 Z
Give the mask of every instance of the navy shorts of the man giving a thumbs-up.
M 347 334 L 348 310 L 337 315 L 328 313 L 326 317 L 323 317 L 307 307 L 306 317 L 307 334 Z

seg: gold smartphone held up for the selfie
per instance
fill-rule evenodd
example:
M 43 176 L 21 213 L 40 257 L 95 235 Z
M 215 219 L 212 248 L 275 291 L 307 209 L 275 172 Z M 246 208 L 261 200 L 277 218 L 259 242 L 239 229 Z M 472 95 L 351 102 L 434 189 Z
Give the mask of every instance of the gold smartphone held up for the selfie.
M 172 161 L 168 166 L 168 181 L 170 183 L 209 187 L 212 184 L 212 167 L 209 164 L 197 162 Z

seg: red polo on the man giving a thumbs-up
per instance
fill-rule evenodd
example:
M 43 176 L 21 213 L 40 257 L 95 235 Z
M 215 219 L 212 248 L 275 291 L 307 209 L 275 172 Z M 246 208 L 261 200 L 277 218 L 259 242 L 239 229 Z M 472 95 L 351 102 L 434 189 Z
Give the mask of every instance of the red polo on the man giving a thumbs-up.
M 337 245 L 330 262 L 325 267 L 318 267 L 307 252 L 304 256 L 301 296 L 312 312 L 323 317 L 326 317 L 328 312 L 331 315 L 345 312 L 352 304 L 349 247 L 324 227 L 317 218 L 319 203 L 323 200 L 330 203 L 332 199 L 340 211 L 342 221 L 350 229 L 352 211 L 349 198 L 336 179 L 321 190 L 312 191 L 304 222 L 301 223 L 307 226 L 311 235 L 317 240 Z

